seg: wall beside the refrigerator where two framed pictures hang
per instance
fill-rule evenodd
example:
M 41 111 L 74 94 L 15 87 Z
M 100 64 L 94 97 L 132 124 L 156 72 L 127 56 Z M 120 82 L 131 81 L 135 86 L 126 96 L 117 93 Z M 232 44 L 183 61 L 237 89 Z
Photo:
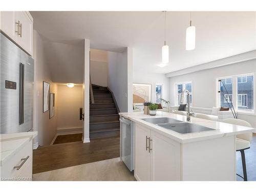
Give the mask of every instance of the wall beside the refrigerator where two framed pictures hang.
M 35 63 L 34 71 L 34 131 L 38 132 L 34 144 L 49 145 L 57 133 L 57 105 L 55 115 L 49 119 L 49 111 L 42 112 L 42 82 L 49 82 L 50 92 L 57 97 L 57 85 L 52 82 L 48 63 L 46 61 L 43 41 L 40 35 L 33 31 L 33 58 Z

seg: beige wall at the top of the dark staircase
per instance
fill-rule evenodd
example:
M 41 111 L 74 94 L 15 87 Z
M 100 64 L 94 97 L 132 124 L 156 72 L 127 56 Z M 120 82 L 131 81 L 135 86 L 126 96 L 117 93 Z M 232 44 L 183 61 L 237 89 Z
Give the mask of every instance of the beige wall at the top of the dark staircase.
M 108 86 L 108 51 L 90 49 L 90 75 L 92 84 Z

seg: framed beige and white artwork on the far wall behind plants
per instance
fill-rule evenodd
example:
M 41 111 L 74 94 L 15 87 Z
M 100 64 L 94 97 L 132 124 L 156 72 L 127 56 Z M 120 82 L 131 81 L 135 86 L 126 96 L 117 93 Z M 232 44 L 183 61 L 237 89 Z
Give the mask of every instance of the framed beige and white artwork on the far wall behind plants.
M 143 105 L 145 101 L 151 101 L 152 84 L 133 83 L 133 104 Z

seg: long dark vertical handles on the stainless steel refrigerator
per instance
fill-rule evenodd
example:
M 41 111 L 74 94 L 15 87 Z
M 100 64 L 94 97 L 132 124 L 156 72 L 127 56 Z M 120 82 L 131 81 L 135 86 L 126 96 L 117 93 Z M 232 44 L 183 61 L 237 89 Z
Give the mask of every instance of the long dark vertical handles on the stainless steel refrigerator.
M 19 124 L 24 123 L 24 70 L 24 64 L 19 63 Z

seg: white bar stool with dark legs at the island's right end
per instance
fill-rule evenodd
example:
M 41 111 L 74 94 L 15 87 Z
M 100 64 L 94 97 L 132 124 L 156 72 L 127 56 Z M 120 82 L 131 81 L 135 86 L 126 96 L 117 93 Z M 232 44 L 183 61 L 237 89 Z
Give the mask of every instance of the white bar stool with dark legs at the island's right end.
M 248 123 L 247 121 L 241 120 L 241 119 L 224 119 L 223 122 L 251 127 L 250 123 Z M 238 174 L 237 175 L 239 177 L 243 178 L 244 181 L 247 181 L 244 150 L 247 150 L 248 148 L 250 148 L 251 138 L 252 138 L 252 133 L 241 134 L 241 135 L 237 135 L 237 137 L 236 137 L 236 151 L 241 153 L 244 177 L 242 177 Z

